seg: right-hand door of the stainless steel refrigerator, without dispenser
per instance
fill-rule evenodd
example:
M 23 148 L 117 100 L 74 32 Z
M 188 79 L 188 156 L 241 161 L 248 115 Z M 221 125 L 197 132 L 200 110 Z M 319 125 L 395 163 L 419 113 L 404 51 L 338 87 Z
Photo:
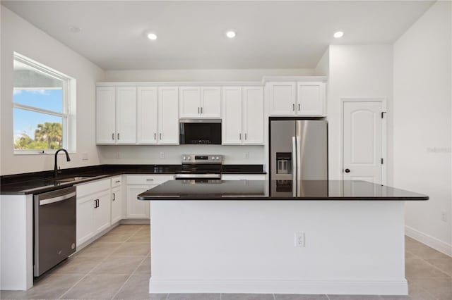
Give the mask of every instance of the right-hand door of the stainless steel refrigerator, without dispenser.
M 297 120 L 297 180 L 328 180 L 325 120 Z

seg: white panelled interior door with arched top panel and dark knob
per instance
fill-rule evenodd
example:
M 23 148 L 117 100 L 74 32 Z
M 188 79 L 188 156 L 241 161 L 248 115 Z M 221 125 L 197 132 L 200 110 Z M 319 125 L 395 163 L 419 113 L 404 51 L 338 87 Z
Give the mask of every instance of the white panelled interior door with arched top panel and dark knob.
M 382 184 L 383 122 L 380 101 L 343 102 L 343 179 Z

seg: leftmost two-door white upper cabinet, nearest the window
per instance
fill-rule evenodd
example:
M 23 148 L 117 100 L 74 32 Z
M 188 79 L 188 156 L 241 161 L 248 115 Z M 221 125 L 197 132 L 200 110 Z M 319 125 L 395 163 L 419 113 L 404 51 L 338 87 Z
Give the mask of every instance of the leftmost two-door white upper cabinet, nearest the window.
M 136 143 L 136 87 L 97 87 L 96 142 Z

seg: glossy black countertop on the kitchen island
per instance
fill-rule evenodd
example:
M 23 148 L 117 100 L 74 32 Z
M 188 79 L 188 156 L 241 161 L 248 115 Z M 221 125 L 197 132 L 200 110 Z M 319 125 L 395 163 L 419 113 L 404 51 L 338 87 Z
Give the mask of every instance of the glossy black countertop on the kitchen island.
M 423 194 L 361 180 L 299 180 L 283 185 L 266 180 L 170 180 L 138 195 L 140 200 L 428 200 Z M 287 185 L 289 183 L 289 185 Z M 292 188 L 299 193 L 294 195 Z

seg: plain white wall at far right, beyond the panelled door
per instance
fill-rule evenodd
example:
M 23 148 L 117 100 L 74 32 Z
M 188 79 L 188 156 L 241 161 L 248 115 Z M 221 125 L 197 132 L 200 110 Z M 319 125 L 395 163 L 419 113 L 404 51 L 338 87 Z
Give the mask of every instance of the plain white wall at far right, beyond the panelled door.
M 394 185 L 430 196 L 406 204 L 407 232 L 449 255 L 451 10 L 450 1 L 436 2 L 394 44 Z

